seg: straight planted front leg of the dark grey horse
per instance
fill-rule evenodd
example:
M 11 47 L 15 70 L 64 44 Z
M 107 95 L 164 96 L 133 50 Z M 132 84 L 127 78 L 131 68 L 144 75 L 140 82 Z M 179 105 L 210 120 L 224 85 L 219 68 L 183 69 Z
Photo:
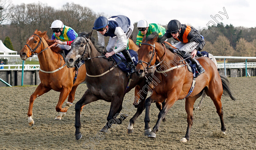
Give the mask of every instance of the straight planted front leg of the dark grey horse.
M 80 132 L 80 128 L 81 128 L 81 122 L 80 122 L 80 116 L 81 116 L 81 109 L 84 105 L 89 104 L 93 101 L 98 101 L 98 98 L 92 94 L 89 90 L 86 90 L 83 97 L 76 102 L 75 105 L 75 127 L 76 127 L 76 140 L 79 140 L 80 138 L 82 138 L 82 133 Z

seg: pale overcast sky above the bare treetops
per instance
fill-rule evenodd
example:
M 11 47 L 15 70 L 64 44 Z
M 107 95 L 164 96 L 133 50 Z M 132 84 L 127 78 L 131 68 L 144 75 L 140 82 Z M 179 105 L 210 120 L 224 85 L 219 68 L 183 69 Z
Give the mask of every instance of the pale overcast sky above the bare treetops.
M 31 0 L 12 0 L 13 4 L 31 3 Z M 33 2 L 37 3 L 37 0 Z M 44 0 L 56 9 L 74 2 L 104 12 L 109 16 L 126 15 L 132 22 L 146 19 L 149 23 L 167 25 L 172 19 L 197 29 L 223 22 L 224 25 L 256 27 L 254 0 Z M 60 3 L 61 2 L 61 3 Z M 67 8 L 68 9 L 68 8 Z M 224 10 L 225 9 L 225 10 Z M 214 18 L 215 20 L 211 17 Z

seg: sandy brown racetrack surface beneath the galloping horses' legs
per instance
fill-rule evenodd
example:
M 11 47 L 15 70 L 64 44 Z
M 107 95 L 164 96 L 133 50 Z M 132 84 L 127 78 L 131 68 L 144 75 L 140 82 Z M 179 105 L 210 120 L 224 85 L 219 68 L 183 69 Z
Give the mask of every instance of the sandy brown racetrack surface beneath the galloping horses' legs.
M 32 127 L 27 123 L 29 97 L 36 87 L 1 87 L 0 149 L 254 149 L 256 146 L 256 77 L 228 78 L 237 101 L 222 96 L 226 135 L 220 134 L 220 120 L 212 100 L 207 97 L 201 109 L 194 111 L 190 141 L 181 143 L 187 129 L 185 100 L 177 101 L 166 115 L 155 139 L 144 137 L 144 115 L 137 119 L 134 132 L 126 134 L 129 119 L 136 112 L 132 109 L 134 91 L 126 94 L 121 113 L 129 114 L 123 124 L 104 133 L 104 138 L 94 138 L 105 125 L 110 103 L 99 100 L 84 107 L 81 113 L 83 137 L 75 140 L 74 104 L 87 89 L 78 86 L 74 104 L 62 120 L 55 106 L 59 92 L 50 92 L 34 101 Z M 198 104 L 200 98 L 196 101 Z M 158 109 L 150 109 L 150 126 L 156 123 Z M 102 136 L 103 136 L 102 135 Z M 101 138 L 102 138 L 101 136 Z M 90 141 L 94 138 L 94 142 Z

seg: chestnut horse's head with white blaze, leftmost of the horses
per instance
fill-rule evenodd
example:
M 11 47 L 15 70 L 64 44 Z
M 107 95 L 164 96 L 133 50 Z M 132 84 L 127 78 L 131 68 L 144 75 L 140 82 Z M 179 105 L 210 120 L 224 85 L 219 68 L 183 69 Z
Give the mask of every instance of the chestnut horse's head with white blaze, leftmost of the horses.
M 42 37 L 46 32 L 35 30 L 35 32 L 27 39 L 26 45 L 20 50 L 20 58 L 27 60 L 28 57 L 34 55 L 34 53 L 40 53 L 43 48 Z M 40 47 L 40 48 L 39 48 Z

